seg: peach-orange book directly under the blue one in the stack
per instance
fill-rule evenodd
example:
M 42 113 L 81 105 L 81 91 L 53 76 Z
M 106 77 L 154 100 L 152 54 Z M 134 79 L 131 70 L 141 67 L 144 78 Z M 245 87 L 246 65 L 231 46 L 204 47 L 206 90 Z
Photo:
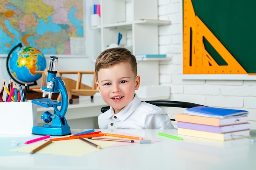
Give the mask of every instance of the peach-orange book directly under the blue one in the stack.
M 226 126 L 230 124 L 241 124 L 241 123 L 246 123 L 247 122 L 246 119 L 247 119 L 247 116 L 220 119 L 220 118 L 209 118 L 209 117 L 203 117 L 203 116 L 185 115 L 184 113 L 175 115 L 175 120 L 179 122 L 206 124 L 211 126 Z

